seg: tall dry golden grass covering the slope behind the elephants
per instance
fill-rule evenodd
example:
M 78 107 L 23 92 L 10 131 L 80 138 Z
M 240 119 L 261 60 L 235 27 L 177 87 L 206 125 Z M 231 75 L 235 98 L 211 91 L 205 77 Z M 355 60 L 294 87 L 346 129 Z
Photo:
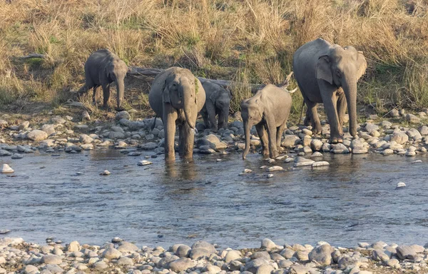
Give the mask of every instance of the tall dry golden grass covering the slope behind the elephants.
M 381 111 L 428 106 L 426 0 L 13 0 L 0 1 L 0 107 L 61 104 L 101 48 L 128 65 L 277 83 L 293 52 L 317 37 L 365 52 L 360 103 Z M 15 58 L 34 52 L 49 58 Z M 238 110 L 250 91 L 235 86 L 233 93 Z M 293 97 L 293 112 L 300 111 L 301 97 Z M 147 108 L 145 96 L 136 101 Z

